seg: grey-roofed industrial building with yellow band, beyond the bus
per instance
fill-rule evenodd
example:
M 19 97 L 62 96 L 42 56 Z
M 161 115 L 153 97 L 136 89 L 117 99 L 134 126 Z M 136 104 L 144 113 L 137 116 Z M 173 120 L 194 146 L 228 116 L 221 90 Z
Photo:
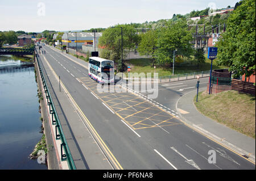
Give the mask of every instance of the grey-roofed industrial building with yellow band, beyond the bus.
M 62 36 L 62 44 L 67 45 L 68 48 L 72 49 L 82 49 L 82 45 L 87 45 L 89 47 L 94 47 L 94 39 L 96 45 L 98 44 L 99 37 L 102 36 L 102 33 L 94 33 L 93 32 L 69 32 L 64 33 Z

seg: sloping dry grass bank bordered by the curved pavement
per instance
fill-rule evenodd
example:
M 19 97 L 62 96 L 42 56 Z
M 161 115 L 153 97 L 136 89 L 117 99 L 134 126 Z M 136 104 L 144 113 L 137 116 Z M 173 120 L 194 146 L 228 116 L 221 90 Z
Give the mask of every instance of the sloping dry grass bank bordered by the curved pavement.
M 255 139 L 255 96 L 238 91 L 224 91 L 209 95 L 199 92 L 197 110 L 227 127 Z

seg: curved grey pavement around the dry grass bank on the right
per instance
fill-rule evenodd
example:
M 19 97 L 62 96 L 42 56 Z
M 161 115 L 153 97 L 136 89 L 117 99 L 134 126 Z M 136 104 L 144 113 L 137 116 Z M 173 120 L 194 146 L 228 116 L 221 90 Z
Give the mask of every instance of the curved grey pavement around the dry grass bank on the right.
M 199 91 L 204 90 L 205 88 L 199 89 Z M 193 103 L 195 95 L 196 90 L 193 90 L 177 100 L 176 110 L 184 123 L 255 163 L 255 139 L 204 116 Z

